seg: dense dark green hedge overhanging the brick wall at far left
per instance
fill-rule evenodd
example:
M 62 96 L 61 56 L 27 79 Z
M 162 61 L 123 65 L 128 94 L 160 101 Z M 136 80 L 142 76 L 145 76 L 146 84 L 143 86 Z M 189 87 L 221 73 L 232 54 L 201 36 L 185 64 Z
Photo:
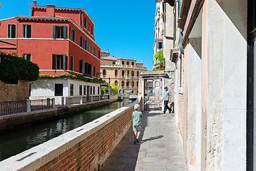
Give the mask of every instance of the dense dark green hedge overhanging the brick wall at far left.
M 4 53 L 0 51 L 0 58 L 1 81 L 36 81 L 39 78 L 39 66 L 36 63 L 26 61 L 16 53 Z

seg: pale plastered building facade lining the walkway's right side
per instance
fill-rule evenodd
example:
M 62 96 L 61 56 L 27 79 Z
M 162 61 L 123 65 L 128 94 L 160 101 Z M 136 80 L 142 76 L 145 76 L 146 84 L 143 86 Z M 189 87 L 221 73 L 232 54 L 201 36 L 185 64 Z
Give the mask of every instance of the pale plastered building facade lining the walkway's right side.
M 255 170 L 255 1 L 164 3 L 173 8 L 175 122 L 188 170 Z

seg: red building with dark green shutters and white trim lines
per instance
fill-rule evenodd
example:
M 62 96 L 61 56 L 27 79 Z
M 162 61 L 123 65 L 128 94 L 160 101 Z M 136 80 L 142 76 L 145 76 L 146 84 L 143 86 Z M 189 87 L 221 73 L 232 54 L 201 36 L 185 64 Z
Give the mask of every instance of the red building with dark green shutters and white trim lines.
M 39 65 L 41 74 L 98 76 L 101 47 L 86 11 L 33 2 L 31 16 L 0 20 L 0 51 L 23 55 Z

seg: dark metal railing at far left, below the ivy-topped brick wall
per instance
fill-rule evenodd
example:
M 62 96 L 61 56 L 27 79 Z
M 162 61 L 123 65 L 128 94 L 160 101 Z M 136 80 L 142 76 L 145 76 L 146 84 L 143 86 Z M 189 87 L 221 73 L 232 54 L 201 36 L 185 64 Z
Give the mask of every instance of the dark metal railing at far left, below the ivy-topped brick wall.
M 26 100 L 0 102 L 0 115 L 26 112 Z

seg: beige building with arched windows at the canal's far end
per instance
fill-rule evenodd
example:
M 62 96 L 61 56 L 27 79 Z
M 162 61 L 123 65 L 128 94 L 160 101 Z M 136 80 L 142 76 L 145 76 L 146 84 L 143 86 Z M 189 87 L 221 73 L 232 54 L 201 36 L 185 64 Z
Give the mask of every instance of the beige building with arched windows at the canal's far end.
M 101 78 L 122 88 L 123 96 L 138 95 L 138 77 L 142 71 L 147 71 L 143 63 L 135 59 L 114 58 L 107 56 L 101 58 Z

